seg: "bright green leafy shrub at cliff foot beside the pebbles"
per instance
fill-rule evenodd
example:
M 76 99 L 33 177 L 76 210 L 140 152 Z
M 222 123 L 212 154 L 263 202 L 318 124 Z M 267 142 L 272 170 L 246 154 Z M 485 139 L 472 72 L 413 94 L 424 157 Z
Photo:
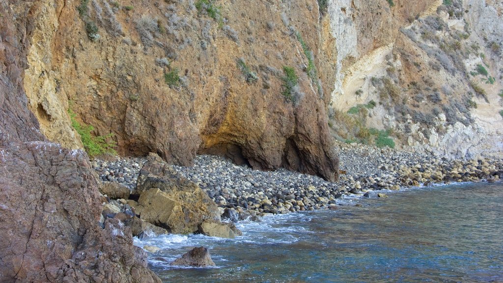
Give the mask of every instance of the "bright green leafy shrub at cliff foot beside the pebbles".
M 71 126 L 80 135 L 80 140 L 84 149 L 90 157 L 96 157 L 103 154 L 117 154 L 115 147 L 117 143 L 112 139 L 113 133 L 107 135 L 93 136 L 91 134 L 94 131 L 92 125 L 87 125 L 85 123 L 79 123 L 76 120 L 76 114 L 68 108 L 68 115 L 70 115 Z

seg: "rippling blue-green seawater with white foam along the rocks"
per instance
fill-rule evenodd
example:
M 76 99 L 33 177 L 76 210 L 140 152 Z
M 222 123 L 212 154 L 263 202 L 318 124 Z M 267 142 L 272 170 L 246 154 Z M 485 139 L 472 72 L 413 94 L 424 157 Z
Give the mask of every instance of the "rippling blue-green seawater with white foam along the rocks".
M 164 282 L 503 282 L 503 184 L 386 192 L 318 210 L 241 222 L 243 237 L 169 235 L 150 267 Z M 352 203 L 360 203 L 358 207 Z M 195 246 L 217 268 L 175 268 Z

